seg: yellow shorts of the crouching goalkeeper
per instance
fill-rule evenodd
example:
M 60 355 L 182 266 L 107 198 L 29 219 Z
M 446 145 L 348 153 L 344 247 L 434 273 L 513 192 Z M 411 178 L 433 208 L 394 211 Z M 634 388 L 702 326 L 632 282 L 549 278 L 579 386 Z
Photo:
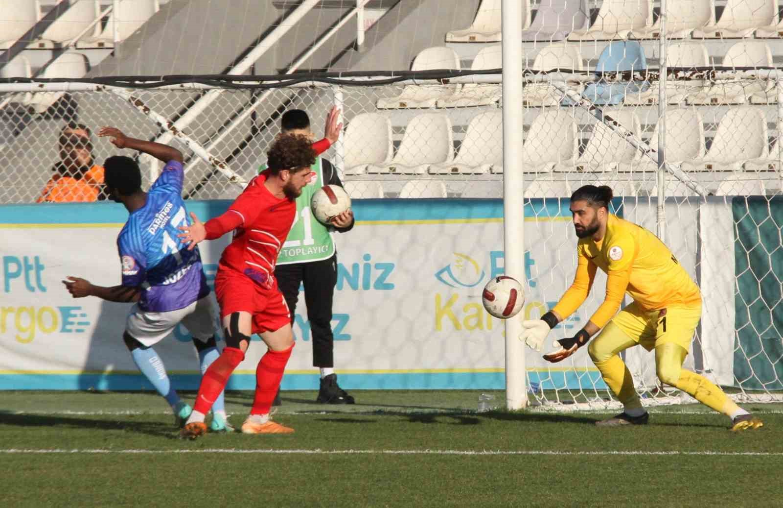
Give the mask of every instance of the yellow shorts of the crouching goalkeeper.
M 690 351 L 691 340 L 701 318 L 701 305 L 644 310 L 633 302 L 620 310 L 611 322 L 648 351 L 666 343 L 674 343 Z

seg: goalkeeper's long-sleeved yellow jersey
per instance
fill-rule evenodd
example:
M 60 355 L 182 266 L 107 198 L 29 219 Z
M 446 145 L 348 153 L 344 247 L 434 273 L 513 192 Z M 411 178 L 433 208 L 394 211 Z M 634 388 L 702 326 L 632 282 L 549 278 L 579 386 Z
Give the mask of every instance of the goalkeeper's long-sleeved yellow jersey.
M 574 282 L 552 309 L 563 319 L 585 301 L 597 268 L 607 274 L 604 303 L 590 318 L 599 328 L 617 313 L 626 292 L 645 310 L 701 305 L 698 286 L 677 258 L 655 234 L 637 224 L 609 215 L 604 238 L 580 238 L 576 252 Z

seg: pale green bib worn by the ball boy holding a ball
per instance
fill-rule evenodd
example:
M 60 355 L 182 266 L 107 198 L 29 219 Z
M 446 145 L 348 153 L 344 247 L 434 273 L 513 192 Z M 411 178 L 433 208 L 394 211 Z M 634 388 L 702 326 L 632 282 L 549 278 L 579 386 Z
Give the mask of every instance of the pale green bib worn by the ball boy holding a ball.
M 261 165 L 258 172 L 266 169 Z M 323 171 L 321 170 L 321 158 L 316 158 L 316 163 L 311 166 L 316 173 L 316 180 L 308 183 L 296 198 L 296 216 L 294 224 L 288 233 L 283 249 L 277 256 L 277 264 L 309 263 L 329 259 L 334 254 L 334 241 L 326 226 L 319 223 L 310 211 L 310 198 L 323 187 Z

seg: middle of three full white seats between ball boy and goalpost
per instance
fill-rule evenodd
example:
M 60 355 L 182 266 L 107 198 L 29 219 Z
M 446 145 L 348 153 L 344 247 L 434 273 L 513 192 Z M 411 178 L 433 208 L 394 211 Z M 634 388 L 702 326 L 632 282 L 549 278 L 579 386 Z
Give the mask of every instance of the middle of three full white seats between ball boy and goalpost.
M 451 120 L 446 114 L 425 113 L 406 125 L 397 153 L 388 164 L 367 165 L 369 173 L 421 175 L 429 165 L 454 157 Z

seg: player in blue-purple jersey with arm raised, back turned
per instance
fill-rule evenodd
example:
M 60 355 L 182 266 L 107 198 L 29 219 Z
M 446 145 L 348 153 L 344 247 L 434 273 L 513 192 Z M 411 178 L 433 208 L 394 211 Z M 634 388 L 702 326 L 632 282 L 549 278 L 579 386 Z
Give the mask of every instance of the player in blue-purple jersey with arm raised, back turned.
M 165 397 L 179 423 L 183 423 L 192 408 L 171 387 L 153 345 L 182 322 L 193 336 L 201 372 L 220 353 L 215 345 L 215 319 L 207 299 L 210 290 L 200 254 L 198 249 L 188 250 L 178 237 L 177 228 L 187 224 L 188 218 L 182 201 L 182 153 L 160 143 L 129 138 L 114 127 L 104 127 L 98 136 L 110 136 L 117 148 L 142 151 L 164 161 L 166 166 L 150 191 L 144 192 L 139 165 L 132 158 L 106 159 L 106 194 L 125 205 L 130 213 L 117 237 L 122 283 L 103 287 L 76 277 L 63 283 L 74 298 L 98 296 L 110 302 L 135 302 L 125 324 L 125 345 L 136 366 Z M 212 412 L 211 430 L 233 430 L 226 420 L 223 394 L 215 401 Z

